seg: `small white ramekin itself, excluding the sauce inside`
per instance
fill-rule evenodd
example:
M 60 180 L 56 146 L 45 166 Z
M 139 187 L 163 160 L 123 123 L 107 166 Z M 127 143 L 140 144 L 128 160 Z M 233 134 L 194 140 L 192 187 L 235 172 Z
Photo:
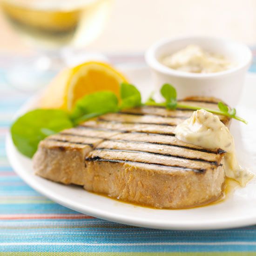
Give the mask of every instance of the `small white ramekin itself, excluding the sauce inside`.
M 199 45 L 212 53 L 222 54 L 235 65 L 222 72 L 196 74 L 171 69 L 159 61 L 163 56 L 173 54 L 190 44 Z M 235 107 L 242 94 L 252 54 L 248 46 L 232 40 L 194 36 L 160 40 L 148 49 L 145 59 L 152 70 L 156 90 L 164 83 L 170 83 L 176 88 L 179 99 L 188 96 L 212 96 Z

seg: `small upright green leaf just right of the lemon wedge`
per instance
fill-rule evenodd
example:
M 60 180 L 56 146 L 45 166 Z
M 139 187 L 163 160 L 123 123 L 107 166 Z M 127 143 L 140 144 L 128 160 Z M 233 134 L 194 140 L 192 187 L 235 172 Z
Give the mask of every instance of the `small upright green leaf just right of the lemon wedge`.
M 132 84 L 122 83 L 120 88 L 121 109 L 135 108 L 141 106 L 141 93 Z

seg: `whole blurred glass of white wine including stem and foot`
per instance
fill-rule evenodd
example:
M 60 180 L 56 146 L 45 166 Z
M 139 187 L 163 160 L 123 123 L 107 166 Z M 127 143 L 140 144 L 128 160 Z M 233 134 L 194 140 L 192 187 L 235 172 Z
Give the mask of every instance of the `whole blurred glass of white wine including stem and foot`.
M 13 30 L 37 52 L 36 57 L 16 62 L 7 81 L 31 90 L 44 85 L 65 66 L 86 53 L 82 49 L 103 30 L 112 0 L 0 0 Z

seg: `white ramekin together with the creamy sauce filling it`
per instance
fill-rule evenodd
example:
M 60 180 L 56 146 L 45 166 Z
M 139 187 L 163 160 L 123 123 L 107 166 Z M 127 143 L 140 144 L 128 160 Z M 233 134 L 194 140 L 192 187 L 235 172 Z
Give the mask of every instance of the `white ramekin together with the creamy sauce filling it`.
M 213 37 L 182 37 L 152 45 L 145 59 L 155 89 L 172 84 L 178 98 L 209 96 L 235 107 L 252 54 L 244 44 Z

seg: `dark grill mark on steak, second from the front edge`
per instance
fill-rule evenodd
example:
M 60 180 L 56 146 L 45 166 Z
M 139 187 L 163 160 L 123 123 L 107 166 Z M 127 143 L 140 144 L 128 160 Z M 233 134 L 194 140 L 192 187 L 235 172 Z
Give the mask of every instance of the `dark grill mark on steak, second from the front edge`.
M 175 158 L 181 158 L 181 159 L 187 159 L 187 160 L 193 160 L 193 161 L 199 161 L 199 162 L 207 162 L 210 164 L 213 164 L 215 166 L 222 166 L 222 164 L 218 164 L 216 161 L 209 161 L 202 158 L 192 158 L 192 157 L 185 157 L 181 155 L 172 155 L 172 154 L 162 154 L 158 152 L 150 152 L 150 151 L 144 151 L 144 150 L 130 150 L 130 149 L 115 149 L 115 148 L 95 148 L 95 150 L 104 150 L 104 151 L 120 151 L 120 152 L 132 152 L 132 153 L 141 153 L 141 154 L 151 154 L 151 155 L 164 155 L 164 156 L 170 156 Z

